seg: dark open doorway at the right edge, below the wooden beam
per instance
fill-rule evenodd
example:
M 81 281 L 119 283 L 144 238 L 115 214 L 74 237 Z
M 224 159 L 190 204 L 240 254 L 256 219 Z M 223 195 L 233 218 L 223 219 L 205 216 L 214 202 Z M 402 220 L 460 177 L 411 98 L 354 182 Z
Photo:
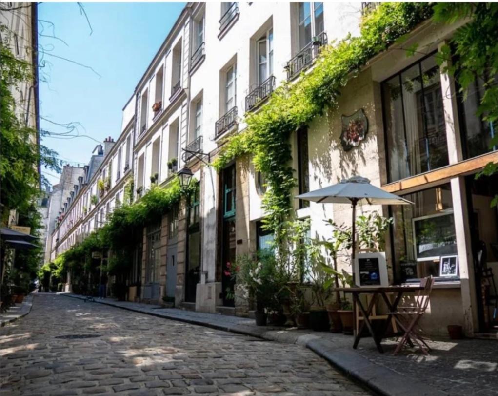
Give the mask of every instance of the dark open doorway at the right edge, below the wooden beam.
M 479 331 L 498 332 L 498 175 L 465 179 L 476 280 Z

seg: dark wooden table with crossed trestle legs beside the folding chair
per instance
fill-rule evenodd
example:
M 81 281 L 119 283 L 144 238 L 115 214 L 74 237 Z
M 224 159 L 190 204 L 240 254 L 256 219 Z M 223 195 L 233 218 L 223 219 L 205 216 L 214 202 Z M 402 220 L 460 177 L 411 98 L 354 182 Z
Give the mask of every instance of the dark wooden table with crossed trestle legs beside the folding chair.
M 384 353 L 380 342 L 382 338 L 385 337 L 385 333 L 387 332 L 387 328 L 389 327 L 389 323 L 392 319 L 392 312 L 396 312 L 399 302 L 401 301 L 401 297 L 405 293 L 412 293 L 419 290 L 422 290 L 423 287 L 420 286 L 386 286 L 386 287 L 344 287 L 344 288 L 335 288 L 336 291 L 342 291 L 344 293 L 351 293 L 353 296 L 353 306 L 358 307 L 360 312 L 363 315 L 362 324 L 360 328 L 356 329 L 357 321 L 354 321 L 355 327 L 355 342 L 353 344 L 353 348 L 356 349 L 358 347 L 358 343 L 360 342 L 360 336 L 362 334 L 363 328 L 367 326 L 375 345 L 380 353 Z M 367 308 L 362 304 L 360 299 L 360 294 L 371 294 L 372 299 L 368 304 Z M 387 297 L 387 294 L 395 294 L 394 301 L 391 303 L 391 300 Z M 382 327 L 381 331 L 377 330 L 375 332 L 373 330 L 372 323 L 370 318 L 372 316 L 373 307 L 375 307 L 375 303 L 378 301 L 379 297 L 382 297 L 385 304 L 387 305 L 387 316 L 385 321 L 385 326 Z M 355 314 L 355 311 L 354 311 Z M 355 314 L 356 316 L 356 314 Z

